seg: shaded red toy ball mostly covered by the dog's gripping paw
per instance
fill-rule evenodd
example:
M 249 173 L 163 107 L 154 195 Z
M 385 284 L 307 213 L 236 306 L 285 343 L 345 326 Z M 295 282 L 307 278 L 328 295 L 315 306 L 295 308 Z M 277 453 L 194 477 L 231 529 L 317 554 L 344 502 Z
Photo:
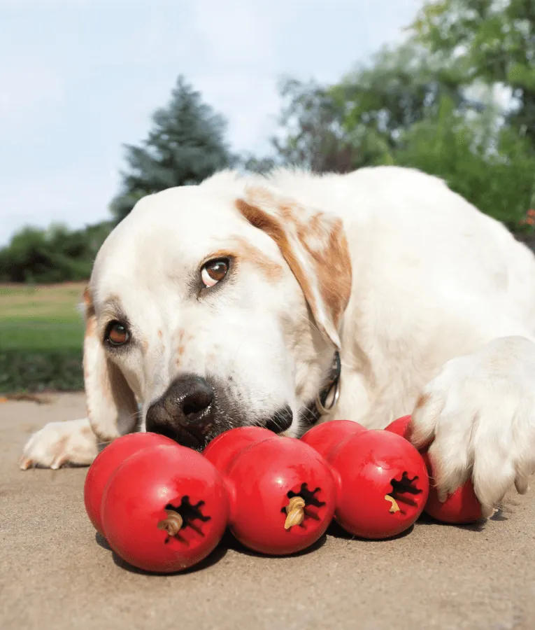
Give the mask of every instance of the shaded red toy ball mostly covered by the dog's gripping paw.
M 454 493 L 450 494 L 443 503 L 438 500 L 438 492 L 433 484 L 433 468 L 427 451 L 423 454 L 423 457 L 431 478 L 429 498 L 425 504 L 426 514 L 429 514 L 437 521 L 456 525 L 474 523 L 482 518 L 481 504 L 473 491 L 473 484 L 470 479 L 460 488 L 457 488 Z

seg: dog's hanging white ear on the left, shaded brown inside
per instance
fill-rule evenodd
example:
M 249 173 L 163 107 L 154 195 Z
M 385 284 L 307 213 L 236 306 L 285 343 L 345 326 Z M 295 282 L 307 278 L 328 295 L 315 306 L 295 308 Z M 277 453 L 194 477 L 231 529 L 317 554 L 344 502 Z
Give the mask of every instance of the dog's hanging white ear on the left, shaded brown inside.
M 103 442 L 125 433 L 134 422 L 137 404 L 124 376 L 106 356 L 97 332 L 97 318 L 89 290 L 84 292 L 84 384 L 87 414 Z

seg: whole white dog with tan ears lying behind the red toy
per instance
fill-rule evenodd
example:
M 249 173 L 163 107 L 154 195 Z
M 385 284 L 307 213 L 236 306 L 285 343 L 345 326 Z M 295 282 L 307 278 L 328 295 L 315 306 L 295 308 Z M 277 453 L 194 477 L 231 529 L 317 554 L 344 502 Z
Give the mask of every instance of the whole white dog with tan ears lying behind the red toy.
M 200 449 L 413 412 L 442 496 L 471 477 L 490 515 L 535 472 L 535 258 L 420 172 L 222 172 L 145 197 L 85 319 L 88 418 L 34 434 L 22 468 L 90 464 L 138 429 Z

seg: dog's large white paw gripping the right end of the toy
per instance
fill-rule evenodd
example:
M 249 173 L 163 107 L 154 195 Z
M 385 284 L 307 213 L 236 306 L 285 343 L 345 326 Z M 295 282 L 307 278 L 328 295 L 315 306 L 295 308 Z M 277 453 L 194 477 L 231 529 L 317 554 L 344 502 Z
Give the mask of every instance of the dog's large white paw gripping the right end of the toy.
M 489 517 L 535 472 L 535 344 L 503 337 L 445 363 L 413 412 L 413 443 L 433 443 L 434 482 L 445 499 L 471 478 Z

